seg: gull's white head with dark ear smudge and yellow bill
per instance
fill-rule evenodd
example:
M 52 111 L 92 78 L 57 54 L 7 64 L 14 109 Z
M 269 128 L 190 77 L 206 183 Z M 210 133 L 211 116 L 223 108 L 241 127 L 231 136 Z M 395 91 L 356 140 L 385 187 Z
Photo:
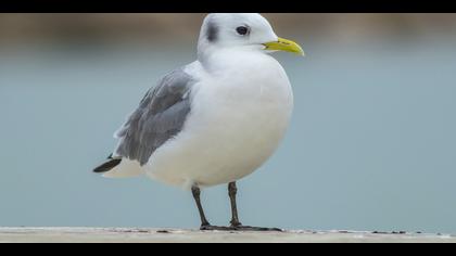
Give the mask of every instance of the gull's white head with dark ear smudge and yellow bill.
M 198 47 L 200 54 L 219 49 L 239 49 L 304 55 L 297 43 L 278 37 L 269 22 L 257 13 L 208 14 L 201 27 Z

